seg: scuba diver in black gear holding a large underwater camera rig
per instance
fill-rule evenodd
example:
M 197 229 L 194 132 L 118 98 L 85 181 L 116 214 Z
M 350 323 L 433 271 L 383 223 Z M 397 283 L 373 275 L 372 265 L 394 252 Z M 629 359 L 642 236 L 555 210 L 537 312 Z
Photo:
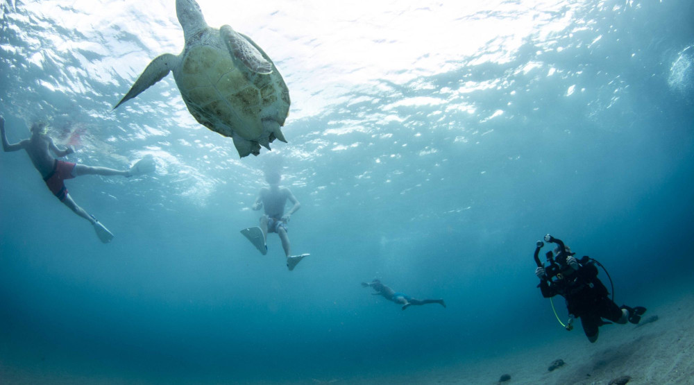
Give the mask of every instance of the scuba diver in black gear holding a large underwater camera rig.
M 598 279 L 598 264 L 600 262 L 587 256 L 577 260 L 571 253 L 571 249 L 564 245 L 561 239 L 556 239 L 550 234 L 545 235 L 545 242 L 556 243 L 557 247 L 546 253 L 548 266 L 543 266 L 538 257 L 540 248 L 544 246 L 542 241 L 536 243 L 535 248 L 535 275 L 540 279 L 538 285 L 544 298 L 551 298 L 559 294 L 566 300 L 566 308 L 569 313 L 568 324 L 561 325 L 566 330 L 572 330 L 574 318 L 581 318 L 583 331 L 586 333 L 591 343 L 598 341 L 598 327 L 608 325 L 610 322 L 602 320 L 605 318 L 614 323 L 625 324 L 638 323 L 641 316 L 645 313 L 645 307 L 618 306 L 611 298 L 607 288 Z M 609 273 L 605 270 L 607 277 Z M 610 279 L 610 282 L 612 280 Z M 614 288 L 612 289 L 614 292 Z M 552 308 L 554 304 L 552 304 Z M 556 312 L 555 312 L 556 314 Z M 557 317 L 557 319 L 559 319 Z

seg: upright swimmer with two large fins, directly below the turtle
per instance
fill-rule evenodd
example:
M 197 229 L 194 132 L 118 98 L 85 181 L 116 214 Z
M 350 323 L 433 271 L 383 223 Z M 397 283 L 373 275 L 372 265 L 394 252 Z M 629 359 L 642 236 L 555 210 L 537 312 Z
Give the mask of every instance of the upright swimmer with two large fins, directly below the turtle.
M 282 248 L 285 250 L 287 258 L 287 268 L 294 270 L 294 267 L 301 262 L 301 259 L 308 257 L 309 254 L 291 255 L 291 244 L 289 243 L 289 235 L 287 235 L 287 223 L 301 204 L 291 190 L 287 187 L 280 187 L 282 175 L 279 171 L 266 171 L 265 180 L 269 187 L 264 187 L 260 190 L 255 203 L 251 207 L 253 210 L 264 208 L 265 214 L 260 217 L 260 228 L 246 228 L 241 230 L 242 234 L 253 243 L 253 245 L 262 253 L 267 254 L 267 234 L 276 232 L 282 241 Z M 291 209 L 285 214 L 285 205 L 287 200 L 292 203 Z

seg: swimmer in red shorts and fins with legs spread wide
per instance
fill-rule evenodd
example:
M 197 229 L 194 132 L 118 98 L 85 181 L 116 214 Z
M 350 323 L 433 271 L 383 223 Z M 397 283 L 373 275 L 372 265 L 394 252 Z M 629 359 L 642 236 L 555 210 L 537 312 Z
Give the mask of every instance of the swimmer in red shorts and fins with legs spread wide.
M 46 134 L 46 123 L 42 122 L 33 123 L 31 126 L 31 137 L 23 139 L 15 144 L 10 144 L 7 140 L 5 119 L 3 119 L 3 117 L 0 117 L 0 131 L 3 150 L 6 152 L 26 151 L 34 167 L 41 173 L 43 180 L 46 182 L 46 186 L 51 190 L 53 195 L 58 197 L 58 199 L 75 212 L 75 214 L 92 223 L 96 235 L 103 243 L 110 242 L 113 239 L 113 234 L 111 234 L 101 222 L 97 221 L 93 215 L 87 214 L 82 207 L 79 207 L 77 203 L 75 203 L 65 187 L 65 180 L 83 175 L 130 177 L 152 172 L 155 169 L 155 163 L 151 156 L 144 157 L 142 160 L 135 163 L 129 170 L 123 171 L 57 160 L 51 155 L 51 152 L 57 157 L 64 157 L 74 153 L 74 148 L 67 146 L 65 150 L 60 150 L 60 148 L 53 143 L 53 139 Z

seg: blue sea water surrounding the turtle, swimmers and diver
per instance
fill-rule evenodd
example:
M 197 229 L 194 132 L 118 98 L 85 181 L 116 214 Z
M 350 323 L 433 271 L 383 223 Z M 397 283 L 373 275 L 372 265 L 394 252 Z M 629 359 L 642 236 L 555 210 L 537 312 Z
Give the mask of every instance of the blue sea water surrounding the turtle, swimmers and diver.
M 115 234 L 104 245 L 24 153 L 0 155 L 5 368 L 115 382 L 310 382 L 484 360 L 564 336 L 535 287 L 532 252 L 547 232 L 602 262 L 620 304 L 654 306 L 641 303 L 648 293 L 691 280 L 691 1 L 482 4 L 447 15 L 436 33 L 448 33 L 428 37 L 436 51 L 417 45 L 411 62 L 384 67 L 359 65 L 360 55 L 374 60 L 369 49 L 341 50 L 359 47 L 348 37 L 371 39 L 359 29 L 366 6 L 345 21 L 353 25 L 311 36 L 283 29 L 296 9 L 271 4 L 237 29 L 260 35 L 287 80 L 289 143 L 242 160 L 230 139 L 192 121 L 171 76 L 110 110 L 151 58 L 183 45 L 173 1 L 153 2 L 151 28 L 141 3 L 117 3 L 1 5 L 10 142 L 45 120 L 59 145 L 77 146 L 71 162 L 124 169 L 151 154 L 158 164 L 142 178 L 67 182 Z M 426 19 L 437 4 L 401 12 Z M 398 12 L 386 19 L 397 24 Z M 466 23 L 529 16 L 525 33 L 470 52 L 435 43 L 464 46 L 456 36 Z M 393 31 L 384 34 L 405 33 Z M 343 55 L 321 62 L 321 49 Z M 292 248 L 311 253 L 291 272 L 275 235 L 262 256 L 239 233 L 257 223 L 249 207 L 262 170 L 277 163 L 302 204 Z M 401 311 L 360 286 L 374 277 L 448 307 Z

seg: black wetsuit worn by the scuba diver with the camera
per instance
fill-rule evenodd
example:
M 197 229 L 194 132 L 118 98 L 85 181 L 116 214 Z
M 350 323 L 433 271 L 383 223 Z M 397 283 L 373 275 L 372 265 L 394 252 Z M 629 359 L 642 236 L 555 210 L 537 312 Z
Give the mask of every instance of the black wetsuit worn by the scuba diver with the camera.
M 541 280 L 539 287 L 542 296 L 563 296 L 569 314 L 581 318 L 586 336 L 589 339 L 593 336 L 597 338 L 598 327 L 604 325 L 600 318 L 617 322 L 622 317 L 622 309 L 609 298 L 607 288 L 598 279 L 598 268 L 595 264 L 588 262 L 579 265 L 577 271 L 569 271 L 568 275 L 559 280 Z

